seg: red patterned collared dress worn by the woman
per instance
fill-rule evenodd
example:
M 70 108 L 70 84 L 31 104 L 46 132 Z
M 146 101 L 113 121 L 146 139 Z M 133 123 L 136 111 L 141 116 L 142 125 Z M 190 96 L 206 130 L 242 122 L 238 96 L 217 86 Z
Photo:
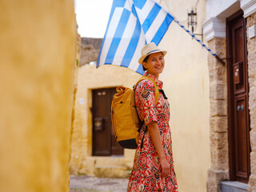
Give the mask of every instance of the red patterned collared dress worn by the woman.
M 162 82 L 153 75 L 144 75 L 153 78 L 158 89 L 162 89 Z M 174 173 L 174 159 L 171 148 L 170 133 L 170 105 L 169 102 L 159 92 L 158 104 L 154 102 L 154 84 L 149 80 L 138 83 L 135 91 L 135 102 L 138 115 L 145 121 L 140 132 L 138 147 L 134 155 L 134 166 L 131 171 L 127 191 L 165 191 L 178 192 L 176 175 Z M 161 177 L 159 158 L 154 149 L 153 140 L 146 128 L 150 122 L 158 122 L 162 146 L 166 154 L 167 162 L 170 163 L 171 174 L 166 178 Z

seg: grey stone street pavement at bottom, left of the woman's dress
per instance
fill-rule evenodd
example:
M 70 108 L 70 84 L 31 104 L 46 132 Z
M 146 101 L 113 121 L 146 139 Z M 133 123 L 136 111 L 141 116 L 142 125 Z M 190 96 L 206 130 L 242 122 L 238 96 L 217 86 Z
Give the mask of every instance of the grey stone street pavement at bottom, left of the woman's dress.
M 70 175 L 70 192 L 124 192 L 128 178 L 95 178 L 87 175 Z

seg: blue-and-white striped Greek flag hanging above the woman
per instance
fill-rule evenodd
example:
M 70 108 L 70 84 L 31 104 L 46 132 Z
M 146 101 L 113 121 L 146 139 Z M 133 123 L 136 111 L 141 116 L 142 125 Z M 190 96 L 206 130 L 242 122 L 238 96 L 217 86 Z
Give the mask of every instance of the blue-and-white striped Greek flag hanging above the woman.
M 114 0 L 96 67 L 124 66 L 144 74 L 138 63 L 142 47 L 158 45 L 173 20 L 154 0 Z

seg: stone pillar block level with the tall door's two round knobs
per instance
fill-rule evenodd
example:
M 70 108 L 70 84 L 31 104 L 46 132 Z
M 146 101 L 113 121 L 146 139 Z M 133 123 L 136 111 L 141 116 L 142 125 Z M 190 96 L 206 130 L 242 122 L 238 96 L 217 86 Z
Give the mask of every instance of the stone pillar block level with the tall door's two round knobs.
M 210 117 L 226 116 L 226 100 L 210 100 Z

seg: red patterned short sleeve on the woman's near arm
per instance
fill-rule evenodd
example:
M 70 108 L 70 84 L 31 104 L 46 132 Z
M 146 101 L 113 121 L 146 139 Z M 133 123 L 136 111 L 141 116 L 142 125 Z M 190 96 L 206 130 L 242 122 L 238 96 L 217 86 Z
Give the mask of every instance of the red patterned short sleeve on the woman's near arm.
M 150 124 L 150 122 L 157 122 L 153 82 L 143 80 L 138 83 L 135 91 L 135 103 L 138 115 L 144 120 L 146 126 Z

